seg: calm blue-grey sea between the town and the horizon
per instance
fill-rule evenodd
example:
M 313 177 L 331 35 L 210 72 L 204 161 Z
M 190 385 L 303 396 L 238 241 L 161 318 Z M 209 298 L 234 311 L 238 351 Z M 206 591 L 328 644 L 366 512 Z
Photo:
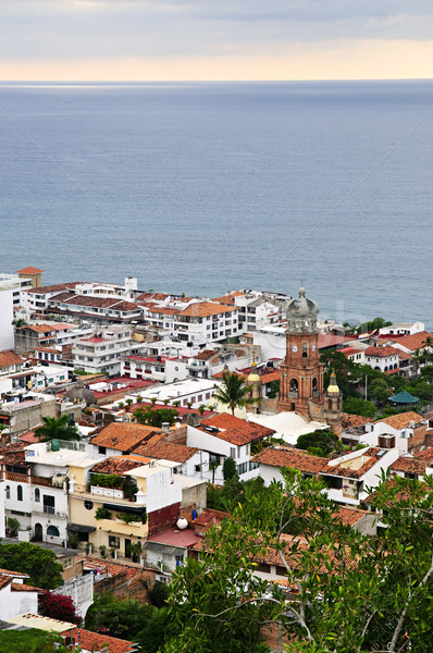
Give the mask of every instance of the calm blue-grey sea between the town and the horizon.
M 0 271 L 433 328 L 433 83 L 0 85 Z

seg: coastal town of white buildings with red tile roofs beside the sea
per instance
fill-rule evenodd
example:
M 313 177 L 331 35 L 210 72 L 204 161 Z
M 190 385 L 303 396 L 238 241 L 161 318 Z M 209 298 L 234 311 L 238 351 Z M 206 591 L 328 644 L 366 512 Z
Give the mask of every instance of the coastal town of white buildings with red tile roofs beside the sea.
M 95 606 L 102 614 L 109 592 L 119 603 L 158 611 L 152 601 L 163 586 L 172 605 L 163 609 L 186 614 L 182 574 L 209 559 L 216 565 L 221 542 L 230 540 L 239 550 L 233 568 L 228 558 L 218 563 L 232 574 L 233 603 L 221 604 L 221 613 L 237 615 L 248 605 L 251 639 L 237 617 L 224 632 L 244 637 L 249 651 L 259 651 L 258 642 L 268 646 L 262 651 L 325 651 L 286 649 L 299 633 L 319 641 L 305 615 L 314 592 L 323 607 L 327 582 L 345 584 L 342 578 L 354 569 L 361 575 L 362 565 L 378 570 L 379 559 L 384 572 L 397 551 L 384 552 L 394 532 L 387 519 L 398 522 L 399 506 L 408 514 L 409 483 L 410 500 L 430 501 L 431 516 L 433 333 L 422 321 L 391 323 L 386 316 L 342 324 L 321 318 L 306 288 L 288 293 L 190 297 L 140 289 L 132 276 L 123 284 L 45 285 L 44 270 L 33 267 L 0 274 L 3 634 L 24 627 L 55 632 L 71 651 L 207 651 L 205 640 L 187 649 L 184 634 L 164 636 L 169 626 L 154 626 L 157 643 L 151 625 L 146 636 L 121 631 L 111 617 L 98 621 Z M 256 521 L 253 509 L 261 513 Z M 341 529 L 332 537 L 331 523 Z M 319 530 L 330 539 L 313 546 Z M 336 540 L 350 558 L 345 571 Z M 381 558 L 362 557 L 370 544 Z M 38 584 L 35 571 L 8 567 L 8 551 L 20 546 L 49 553 L 61 580 Z M 406 549 L 403 558 L 413 562 Z M 388 651 L 429 650 L 408 643 L 418 636 L 405 619 L 424 605 L 430 576 L 429 566 L 420 576 L 413 570 L 417 592 L 401 591 L 401 605 L 388 606 Z M 317 586 L 304 587 L 307 577 Z M 224 587 L 221 595 L 228 594 Z M 69 597 L 76 618 L 47 607 L 47 595 L 54 604 Z M 252 611 L 262 599 L 280 601 L 281 614 L 259 618 Z M 190 601 L 191 611 L 203 613 L 194 634 L 188 630 L 193 642 L 205 637 L 205 613 L 219 612 Z M 373 601 L 369 609 L 362 606 L 354 634 L 359 646 L 382 614 Z M 368 649 L 331 650 L 381 650 L 373 648 L 378 632 L 371 638 Z

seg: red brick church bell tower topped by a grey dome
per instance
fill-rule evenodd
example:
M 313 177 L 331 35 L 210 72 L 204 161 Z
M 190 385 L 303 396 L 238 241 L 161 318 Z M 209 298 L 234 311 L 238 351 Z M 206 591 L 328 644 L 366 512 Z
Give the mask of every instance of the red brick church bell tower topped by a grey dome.
M 306 297 L 300 287 L 286 310 L 286 355 L 280 366 L 279 410 L 296 410 L 307 419 L 317 419 L 323 407 L 323 364 L 318 347 L 320 306 Z

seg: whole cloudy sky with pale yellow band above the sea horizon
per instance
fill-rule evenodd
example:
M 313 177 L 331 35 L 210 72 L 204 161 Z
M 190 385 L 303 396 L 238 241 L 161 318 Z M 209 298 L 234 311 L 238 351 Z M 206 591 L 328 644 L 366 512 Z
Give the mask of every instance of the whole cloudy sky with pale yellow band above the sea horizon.
M 0 0 L 2 81 L 430 78 L 431 0 Z

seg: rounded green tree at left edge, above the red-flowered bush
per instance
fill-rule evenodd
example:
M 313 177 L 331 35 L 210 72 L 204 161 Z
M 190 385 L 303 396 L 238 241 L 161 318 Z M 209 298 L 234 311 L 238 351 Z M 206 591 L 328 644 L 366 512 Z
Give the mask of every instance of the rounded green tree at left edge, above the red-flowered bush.
M 0 568 L 28 574 L 28 584 L 44 590 L 63 584 L 63 567 L 55 553 L 29 542 L 0 544 Z

